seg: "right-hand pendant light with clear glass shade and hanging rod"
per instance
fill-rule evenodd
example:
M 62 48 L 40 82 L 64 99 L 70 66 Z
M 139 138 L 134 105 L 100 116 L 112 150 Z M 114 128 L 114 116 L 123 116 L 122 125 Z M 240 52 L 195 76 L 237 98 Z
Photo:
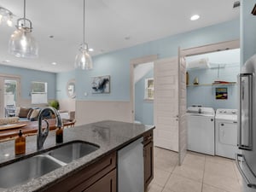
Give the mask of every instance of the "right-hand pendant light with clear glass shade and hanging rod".
M 85 25 L 85 0 L 84 0 L 84 23 Z M 88 50 L 88 44 L 85 43 L 84 40 L 84 28 L 83 28 L 83 44 L 81 44 L 81 47 L 79 49 L 79 54 L 76 55 L 75 59 L 75 68 L 81 68 L 85 70 L 92 69 L 92 61 Z

